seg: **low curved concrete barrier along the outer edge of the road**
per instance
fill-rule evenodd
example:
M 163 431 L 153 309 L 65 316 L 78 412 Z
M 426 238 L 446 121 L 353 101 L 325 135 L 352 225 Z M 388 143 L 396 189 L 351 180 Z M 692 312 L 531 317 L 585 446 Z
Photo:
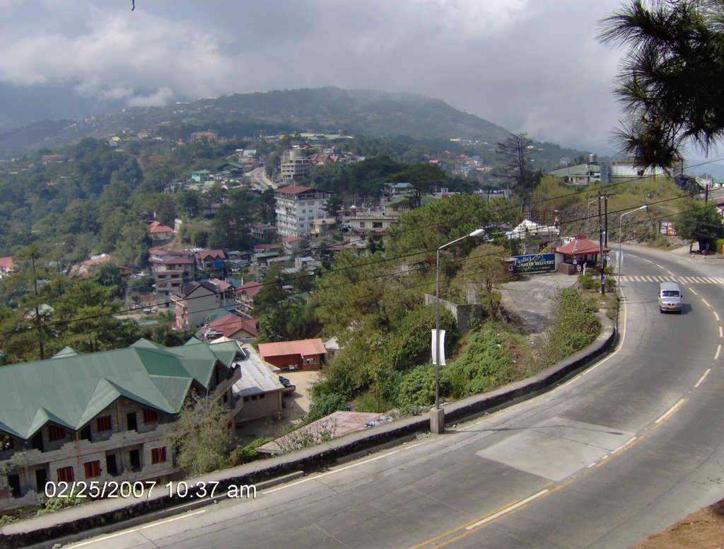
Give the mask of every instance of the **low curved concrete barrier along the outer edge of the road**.
M 578 353 L 554 366 L 544 369 L 525 380 L 513 382 L 505 387 L 474 395 L 445 406 L 445 419 L 449 423 L 467 419 L 485 411 L 510 405 L 550 389 L 552 386 L 582 369 L 606 353 L 615 342 L 615 327 L 605 314 L 599 313 L 602 332 L 599 337 Z M 398 419 L 379 427 L 330 440 L 311 448 L 273 458 L 253 461 L 251 464 L 225 469 L 214 473 L 187 479 L 188 494 L 168 495 L 156 492 L 143 501 L 101 500 L 86 505 L 67 508 L 53 514 L 17 521 L 0 527 L 0 549 L 22 547 L 52 548 L 56 543 L 69 543 L 88 537 L 134 527 L 137 524 L 161 519 L 165 516 L 188 511 L 191 508 L 209 505 L 224 499 L 232 487 L 244 485 L 266 486 L 287 482 L 291 477 L 319 471 L 337 464 L 342 459 L 350 460 L 379 450 L 384 445 L 393 445 L 411 439 L 419 432 L 429 432 L 430 420 L 427 414 Z M 218 482 L 216 497 L 201 498 L 201 488 Z

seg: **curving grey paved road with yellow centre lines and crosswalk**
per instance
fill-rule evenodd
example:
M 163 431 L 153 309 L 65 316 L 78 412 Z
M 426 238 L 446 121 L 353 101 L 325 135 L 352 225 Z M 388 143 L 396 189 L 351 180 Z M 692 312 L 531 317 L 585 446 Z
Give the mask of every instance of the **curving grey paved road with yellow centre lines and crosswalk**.
M 722 265 L 631 250 L 626 277 L 718 277 Z M 232 499 L 87 547 L 622 548 L 724 497 L 724 295 L 623 281 L 623 342 L 531 401 L 256 499 Z

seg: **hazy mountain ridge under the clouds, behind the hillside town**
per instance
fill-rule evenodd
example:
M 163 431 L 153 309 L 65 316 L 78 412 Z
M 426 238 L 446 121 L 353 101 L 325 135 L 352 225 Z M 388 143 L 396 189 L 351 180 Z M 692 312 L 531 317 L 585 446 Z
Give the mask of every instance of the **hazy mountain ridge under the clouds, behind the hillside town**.
M 0 157 L 70 145 L 84 137 L 140 132 L 161 123 L 186 130 L 216 129 L 236 137 L 342 131 L 373 137 L 504 141 L 505 128 L 416 93 L 301 88 L 235 93 L 166 106 L 132 106 L 78 119 L 48 119 L 0 133 Z M 231 135 L 225 135 L 231 136 Z

